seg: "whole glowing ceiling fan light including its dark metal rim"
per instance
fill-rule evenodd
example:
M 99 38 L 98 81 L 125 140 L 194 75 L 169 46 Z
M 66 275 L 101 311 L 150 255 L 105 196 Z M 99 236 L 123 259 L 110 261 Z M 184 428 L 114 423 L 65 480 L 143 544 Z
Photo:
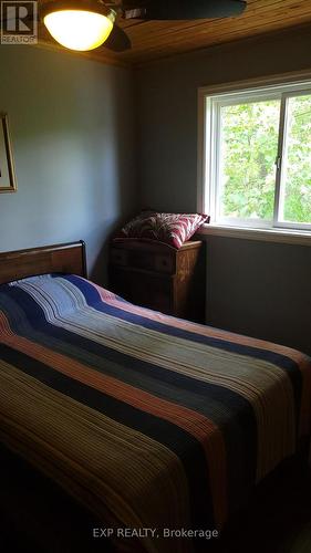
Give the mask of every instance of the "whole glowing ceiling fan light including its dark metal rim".
M 70 50 L 94 50 L 110 36 L 116 13 L 99 1 L 53 1 L 42 7 L 50 34 Z

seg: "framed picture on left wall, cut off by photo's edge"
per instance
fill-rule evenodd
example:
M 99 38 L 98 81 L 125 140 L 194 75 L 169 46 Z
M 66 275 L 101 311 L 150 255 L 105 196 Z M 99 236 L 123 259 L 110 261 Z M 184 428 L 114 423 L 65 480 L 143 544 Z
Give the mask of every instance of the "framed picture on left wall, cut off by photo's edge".
M 0 192 L 15 192 L 12 146 L 9 133 L 8 114 L 0 113 Z

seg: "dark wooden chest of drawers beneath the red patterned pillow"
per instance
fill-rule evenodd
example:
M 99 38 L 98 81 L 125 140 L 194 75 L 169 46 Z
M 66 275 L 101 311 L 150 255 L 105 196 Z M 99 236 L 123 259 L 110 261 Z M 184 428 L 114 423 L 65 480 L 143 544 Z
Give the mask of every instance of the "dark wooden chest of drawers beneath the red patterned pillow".
M 201 241 L 186 242 L 179 250 L 162 242 L 113 242 L 110 290 L 137 305 L 204 323 L 205 264 Z

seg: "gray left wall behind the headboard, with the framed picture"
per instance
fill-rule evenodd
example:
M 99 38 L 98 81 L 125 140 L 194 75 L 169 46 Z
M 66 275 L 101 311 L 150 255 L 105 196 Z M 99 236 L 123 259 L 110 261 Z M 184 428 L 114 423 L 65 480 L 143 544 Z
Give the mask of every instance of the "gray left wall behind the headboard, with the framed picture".
M 0 251 L 84 239 L 103 281 L 107 239 L 135 210 L 133 75 L 66 53 L 0 46 L 17 194 L 0 195 Z

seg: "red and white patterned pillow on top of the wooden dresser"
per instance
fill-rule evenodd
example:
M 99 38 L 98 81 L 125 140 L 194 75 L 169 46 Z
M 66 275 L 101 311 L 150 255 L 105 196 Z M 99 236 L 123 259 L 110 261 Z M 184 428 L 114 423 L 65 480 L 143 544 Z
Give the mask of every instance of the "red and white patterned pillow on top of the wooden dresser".
M 208 221 L 209 217 L 203 213 L 143 211 L 125 225 L 114 240 L 157 240 L 178 249 Z

